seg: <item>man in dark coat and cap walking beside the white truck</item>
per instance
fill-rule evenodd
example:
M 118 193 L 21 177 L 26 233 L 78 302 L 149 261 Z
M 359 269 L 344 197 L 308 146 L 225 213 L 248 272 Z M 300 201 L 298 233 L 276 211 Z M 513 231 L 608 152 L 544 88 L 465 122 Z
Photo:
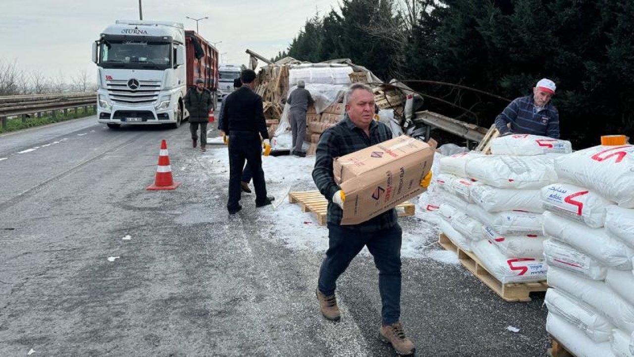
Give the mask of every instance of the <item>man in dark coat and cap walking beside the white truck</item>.
M 200 125 L 200 150 L 205 151 L 209 111 L 214 107 L 214 97 L 205 88 L 205 81 L 200 78 L 196 79 L 196 86 L 187 91 L 184 102 L 185 107 L 190 112 L 191 145 L 196 147 L 198 126 Z

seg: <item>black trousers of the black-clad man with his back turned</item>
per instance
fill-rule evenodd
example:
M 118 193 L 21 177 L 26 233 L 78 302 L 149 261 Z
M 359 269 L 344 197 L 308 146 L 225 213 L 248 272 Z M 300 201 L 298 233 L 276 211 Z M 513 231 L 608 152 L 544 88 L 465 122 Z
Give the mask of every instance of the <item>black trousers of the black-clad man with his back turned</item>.
M 240 205 L 240 177 L 245 160 L 253 173 L 253 186 L 256 190 L 256 205 L 266 201 L 266 184 L 262 170 L 262 142 L 259 133 L 254 131 L 231 131 L 229 135 L 229 200 L 228 210 Z

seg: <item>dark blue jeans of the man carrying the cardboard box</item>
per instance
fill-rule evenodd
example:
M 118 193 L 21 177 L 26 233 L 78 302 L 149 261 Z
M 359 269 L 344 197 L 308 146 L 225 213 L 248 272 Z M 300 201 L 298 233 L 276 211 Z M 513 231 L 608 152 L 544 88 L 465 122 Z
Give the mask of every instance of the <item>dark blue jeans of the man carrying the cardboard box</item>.
M 326 296 L 335 293 L 337 278 L 346 271 L 363 246 L 367 246 L 378 269 L 381 320 L 383 325 L 395 323 L 401 317 L 402 238 L 403 230 L 398 224 L 369 233 L 328 224 L 328 250 L 319 273 L 320 292 Z

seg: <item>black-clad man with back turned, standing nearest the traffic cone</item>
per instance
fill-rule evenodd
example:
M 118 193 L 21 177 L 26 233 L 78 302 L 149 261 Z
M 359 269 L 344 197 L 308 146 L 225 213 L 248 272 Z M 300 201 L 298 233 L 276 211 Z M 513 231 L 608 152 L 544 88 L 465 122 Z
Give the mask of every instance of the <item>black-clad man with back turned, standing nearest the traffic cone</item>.
M 256 190 L 256 207 L 270 205 L 273 197 L 266 196 L 264 171 L 262 171 L 262 141 L 270 145 L 266 130 L 262 97 L 253 90 L 256 72 L 245 69 L 240 74 L 242 87 L 224 100 L 223 131 L 229 137 L 229 199 L 227 210 L 233 215 L 242 210 L 240 206 L 240 176 L 244 161 L 253 173 Z

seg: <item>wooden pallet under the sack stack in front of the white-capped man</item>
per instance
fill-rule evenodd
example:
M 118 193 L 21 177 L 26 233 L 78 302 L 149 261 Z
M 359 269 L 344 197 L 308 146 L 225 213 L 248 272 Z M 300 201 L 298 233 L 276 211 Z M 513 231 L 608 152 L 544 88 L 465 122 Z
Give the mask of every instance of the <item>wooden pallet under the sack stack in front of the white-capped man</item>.
M 453 243 L 444 233 L 440 234 L 438 244 L 446 250 L 456 252 L 460 264 L 467 268 L 476 278 L 482 281 L 496 294 L 506 301 L 531 301 L 529 294 L 532 292 L 545 292 L 548 288 L 546 281 L 531 281 L 527 283 L 506 283 L 497 280 L 493 274 L 486 270 L 482 262 L 472 252 L 465 252 L 460 246 Z

